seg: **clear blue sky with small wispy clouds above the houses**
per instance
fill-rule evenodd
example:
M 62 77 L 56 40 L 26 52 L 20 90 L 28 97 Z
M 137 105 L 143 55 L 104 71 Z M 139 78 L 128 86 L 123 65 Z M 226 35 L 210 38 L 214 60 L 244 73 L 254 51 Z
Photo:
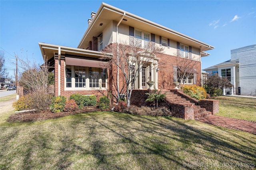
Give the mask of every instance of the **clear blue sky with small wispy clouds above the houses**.
M 92 11 L 105 2 L 215 49 L 202 69 L 230 59 L 230 50 L 256 44 L 256 1 L 0 1 L 0 49 L 14 79 L 15 57 L 42 64 L 38 42 L 77 47 Z

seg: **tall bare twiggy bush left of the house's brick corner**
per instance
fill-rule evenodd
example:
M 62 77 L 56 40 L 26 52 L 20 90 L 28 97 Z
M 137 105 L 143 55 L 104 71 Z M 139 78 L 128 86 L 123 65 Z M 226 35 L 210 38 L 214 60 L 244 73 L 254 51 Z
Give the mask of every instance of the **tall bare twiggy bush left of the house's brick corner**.
M 23 72 L 20 73 L 20 85 L 24 87 L 27 94 L 31 94 L 31 108 L 36 112 L 48 111 L 51 103 L 51 95 L 49 91 L 49 71 L 47 63 L 37 65 L 30 61 L 20 60 L 20 67 Z

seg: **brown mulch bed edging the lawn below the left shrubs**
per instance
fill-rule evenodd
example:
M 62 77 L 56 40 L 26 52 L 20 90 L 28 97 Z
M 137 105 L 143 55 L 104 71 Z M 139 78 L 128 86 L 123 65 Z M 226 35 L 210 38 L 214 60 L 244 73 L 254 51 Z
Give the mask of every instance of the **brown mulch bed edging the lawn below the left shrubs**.
M 79 109 L 74 112 L 59 112 L 59 113 L 52 113 L 52 112 L 42 112 L 42 113 L 34 113 L 34 112 L 24 112 L 24 113 L 15 113 L 10 115 L 10 117 L 6 120 L 8 122 L 34 122 L 34 121 L 44 121 L 47 119 L 57 119 L 60 117 L 68 116 L 68 115 L 76 115 L 79 113 L 87 113 L 87 112 L 94 112 L 94 111 L 102 111 L 98 109 L 96 106 L 88 106 L 84 107 L 83 109 Z M 108 111 L 108 110 L 104 110 Z

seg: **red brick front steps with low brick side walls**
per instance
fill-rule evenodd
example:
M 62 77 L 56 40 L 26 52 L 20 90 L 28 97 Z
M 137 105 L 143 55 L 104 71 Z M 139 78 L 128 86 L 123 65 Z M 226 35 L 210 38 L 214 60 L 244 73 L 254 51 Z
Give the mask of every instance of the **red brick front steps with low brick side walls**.
M 182 90 L 158 90 L 166 94 L 166 100 L 159 103 L 159 106 L 169 107 L 174 117 L 182 119 L 199 119 L 207 115 L 218 113 L 218 100 L 197 101 L 184 94 Z M 154 90 L 133 90 L 131 104 L 137 106 L 149 105 L 145 102 L 145 93 L 154 93 Z

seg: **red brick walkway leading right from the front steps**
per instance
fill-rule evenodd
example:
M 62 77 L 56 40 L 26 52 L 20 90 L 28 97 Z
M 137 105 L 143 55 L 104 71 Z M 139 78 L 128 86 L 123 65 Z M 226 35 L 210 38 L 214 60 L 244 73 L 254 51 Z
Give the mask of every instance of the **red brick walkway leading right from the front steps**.
M 208 115 L 206 117 L 201 117 L 195 120 L 219 127 L 241 130 L 252 134 L 256 134 L 256 122 L 253 121 L 245 121 L 241 119 L 234 119 L 216 115 Z

